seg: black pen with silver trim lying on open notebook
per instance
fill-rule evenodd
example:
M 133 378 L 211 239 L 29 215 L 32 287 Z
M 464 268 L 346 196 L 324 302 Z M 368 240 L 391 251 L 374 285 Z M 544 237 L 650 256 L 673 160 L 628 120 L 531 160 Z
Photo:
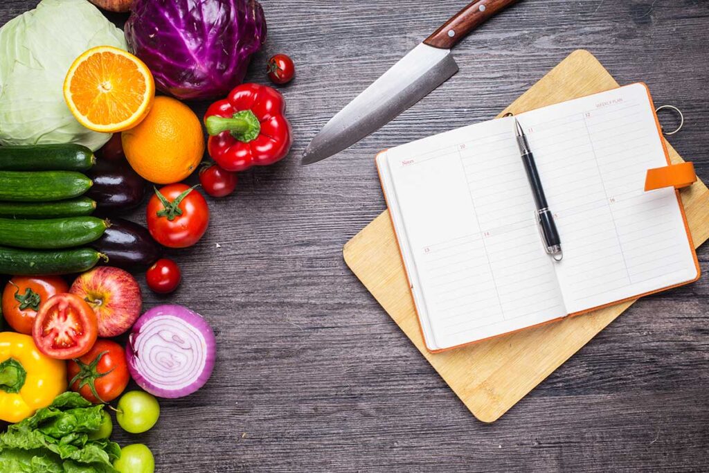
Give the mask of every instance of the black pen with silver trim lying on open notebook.
M 542 238 L 544 238 L 545 245 L 547 245 L 547 253 L 552 255 L 555 261 L 561 261 L 562 257 L 564 257 L 562 240 L 559 238 L 559 231 L 556 223 L 554 223 L 554 215 L 549 210 L 547 196 L 544 195 L 542 179 L 540 179 L 539 172 L 537 172 L 537 165 L 530 151 L 530 145 L 527 143 L 527 137 L 517 118 L 515 118 L 515 133 L 517 134 L 517 145 L 520 148 L 527 178 L 529 179 L 530 187 L 532 187 L 534 201 L 537 204 L 537 225 L 539 225 L 540 233 Z

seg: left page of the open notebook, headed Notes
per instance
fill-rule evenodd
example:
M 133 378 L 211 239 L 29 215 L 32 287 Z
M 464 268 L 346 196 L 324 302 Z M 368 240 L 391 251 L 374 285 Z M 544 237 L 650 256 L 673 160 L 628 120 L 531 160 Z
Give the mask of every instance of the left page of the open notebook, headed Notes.
M 430 348 L 566 315 L 510 118 L 393 148 L 386 161 Z

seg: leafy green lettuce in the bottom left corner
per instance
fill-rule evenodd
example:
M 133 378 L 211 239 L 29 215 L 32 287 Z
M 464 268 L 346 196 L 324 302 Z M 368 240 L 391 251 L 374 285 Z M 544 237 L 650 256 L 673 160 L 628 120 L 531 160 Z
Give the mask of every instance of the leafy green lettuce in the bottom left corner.
M 0 473 L 117 473 L 121 447 L 89 440 L 101 425 L 104 406 L 67 392 L 34 416 L 0 434 Z

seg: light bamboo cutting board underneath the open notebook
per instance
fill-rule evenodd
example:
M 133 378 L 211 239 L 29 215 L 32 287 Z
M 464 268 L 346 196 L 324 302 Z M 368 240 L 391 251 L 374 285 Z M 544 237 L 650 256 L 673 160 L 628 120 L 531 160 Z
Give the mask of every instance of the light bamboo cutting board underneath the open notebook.
M 618 87 L 590 52 L 577 50 L 500 115 L 556 104 Z M 672 162 L 682 158 L 668 145 Z M 694 245 L 709 238 L 709 190 L 701 181 L 681 191 Z M 385 211 L 345 245 L 345 262 L 421 354 L 480 421 L 494 422 L 574 355 L 632 301 L 468 347 L 430 353 Z

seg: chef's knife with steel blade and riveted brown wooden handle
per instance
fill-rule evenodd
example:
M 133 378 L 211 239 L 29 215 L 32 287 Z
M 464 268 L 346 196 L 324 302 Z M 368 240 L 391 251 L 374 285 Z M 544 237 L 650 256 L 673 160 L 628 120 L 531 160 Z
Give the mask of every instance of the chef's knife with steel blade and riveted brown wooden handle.
M 423 99 L 458 72 L 450 49 L 517 1 L 472 1 L 328 121 L 303 152 L 301 165 L 312 165 L 350 148 Z

